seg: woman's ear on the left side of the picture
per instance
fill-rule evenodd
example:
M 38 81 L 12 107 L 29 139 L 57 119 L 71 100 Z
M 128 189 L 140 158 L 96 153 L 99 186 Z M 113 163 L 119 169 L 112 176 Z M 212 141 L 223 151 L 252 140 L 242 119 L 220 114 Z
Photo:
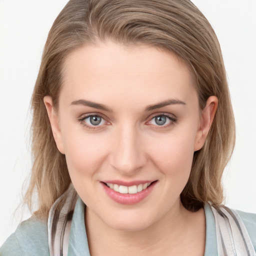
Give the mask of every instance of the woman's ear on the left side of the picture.
M 58 115 L 56 110 L 52 106 L 52 98 L 50 96 L 44 96 L 43 102 L 48 113 L 52 134 L 56 142 L 57 148 L 62 154 L 64 154 L 62 134 L 58 123 Z

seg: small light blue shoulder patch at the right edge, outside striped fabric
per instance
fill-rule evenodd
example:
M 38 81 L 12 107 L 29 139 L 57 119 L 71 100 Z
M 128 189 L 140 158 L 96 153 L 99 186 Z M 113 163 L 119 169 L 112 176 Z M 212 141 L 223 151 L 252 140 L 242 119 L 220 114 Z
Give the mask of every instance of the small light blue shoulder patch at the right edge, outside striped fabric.
M 256 214 L 235 210 L 241 218 L 256 251 Z

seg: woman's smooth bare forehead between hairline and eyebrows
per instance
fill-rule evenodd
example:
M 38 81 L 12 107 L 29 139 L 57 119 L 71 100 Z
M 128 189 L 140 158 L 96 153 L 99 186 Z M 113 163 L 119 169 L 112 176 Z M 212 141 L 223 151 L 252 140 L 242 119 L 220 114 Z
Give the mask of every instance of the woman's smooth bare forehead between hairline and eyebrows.
M 185 100 L 195 93 L 194 77 L 184 61 L 147 45 L 83 46 L 66 58 L 63 78 L 60 97 L 69 101 L 78 97 L 101 103 L 116 99 L 152 103 L 166 97 Z

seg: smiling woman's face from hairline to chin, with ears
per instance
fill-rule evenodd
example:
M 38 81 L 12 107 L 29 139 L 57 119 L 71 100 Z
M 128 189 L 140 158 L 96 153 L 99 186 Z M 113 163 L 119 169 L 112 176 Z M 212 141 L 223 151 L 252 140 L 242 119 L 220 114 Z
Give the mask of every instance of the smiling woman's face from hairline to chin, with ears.
M 188 67 L 153 47 L 108 42 L 72 52 L 63 75 L 58 112 L 45 104 L 88 214 L 120 230 L 177 214 L 205 133 Z

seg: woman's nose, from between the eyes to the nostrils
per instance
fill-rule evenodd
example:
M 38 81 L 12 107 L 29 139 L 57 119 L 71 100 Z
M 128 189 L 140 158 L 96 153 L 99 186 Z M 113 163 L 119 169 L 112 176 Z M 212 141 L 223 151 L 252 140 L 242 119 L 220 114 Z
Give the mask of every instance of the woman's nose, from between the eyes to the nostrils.
M 127 126 L 120 127 L 113 136 L 110 165 L 123 175 L 134 175 L 147 161 L 139 131 Z

